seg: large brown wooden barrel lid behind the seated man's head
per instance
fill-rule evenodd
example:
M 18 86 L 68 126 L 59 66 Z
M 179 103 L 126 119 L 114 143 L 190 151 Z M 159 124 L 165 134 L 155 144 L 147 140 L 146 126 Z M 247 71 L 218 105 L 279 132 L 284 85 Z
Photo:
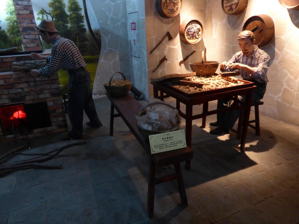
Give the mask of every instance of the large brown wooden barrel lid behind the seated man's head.
M 251 30 L 255 36 L 255 45 L 263 47 L 267 45 L 274 36 L 274 22 L 273 19 L 266 14 L 251 16 L 243 26 L 242 31 L 244 30 Z

